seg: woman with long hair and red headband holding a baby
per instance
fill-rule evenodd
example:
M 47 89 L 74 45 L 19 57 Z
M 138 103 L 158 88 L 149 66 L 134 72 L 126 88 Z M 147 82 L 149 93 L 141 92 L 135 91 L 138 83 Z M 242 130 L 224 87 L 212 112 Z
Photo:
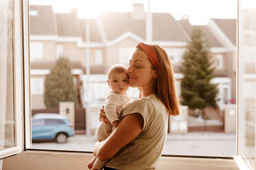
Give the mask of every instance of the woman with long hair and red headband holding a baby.
M 105 169 L 156 169 L 167 136 L 168 115 L 178 115 L 175 78 L 167 53 L 158 45 L 140 42 L 129 60 L 129 86 L 140 99 L 120 113 L 120 124 L 94 154 L 109 160 Z

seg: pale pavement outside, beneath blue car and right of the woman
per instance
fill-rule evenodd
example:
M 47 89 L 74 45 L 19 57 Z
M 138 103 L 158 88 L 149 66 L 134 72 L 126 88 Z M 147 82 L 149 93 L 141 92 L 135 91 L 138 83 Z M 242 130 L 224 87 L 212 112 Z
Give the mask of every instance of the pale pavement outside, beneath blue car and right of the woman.
M 61 149 L 73 151 L 93 151 L 94 136 L 75 134 L 67 143 L 54 141 L 32 143 L 33 149 Z M 183 156 L 221 156 L 235 155 L 235 134 L 216 132 L 190 132 L 188 134 L 168 134 L 162 154 Z

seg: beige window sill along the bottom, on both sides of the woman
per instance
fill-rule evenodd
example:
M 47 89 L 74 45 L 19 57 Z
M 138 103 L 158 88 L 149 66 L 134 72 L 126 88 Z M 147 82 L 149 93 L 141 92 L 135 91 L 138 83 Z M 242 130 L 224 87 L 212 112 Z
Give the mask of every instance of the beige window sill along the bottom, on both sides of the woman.
M 3 169 L 85 169 L 92 154 L 63 151 L 23 151 L 21 154 L 3 160 Z M 36 169 L 35 169 L 36 167 Z M 162 156 L 157 170 L 161 169 L 197 169 L 197 170 L 238 170 L 233 159 L 187 158 Z

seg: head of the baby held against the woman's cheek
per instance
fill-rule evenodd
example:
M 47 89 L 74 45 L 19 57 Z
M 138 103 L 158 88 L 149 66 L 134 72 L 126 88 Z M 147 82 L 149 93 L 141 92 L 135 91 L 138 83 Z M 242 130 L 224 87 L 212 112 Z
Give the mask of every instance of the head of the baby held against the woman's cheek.
M 129 88 L 127 66 L 114 64 L 107 71 L 107 84 L 114 93 L 125 94 Z

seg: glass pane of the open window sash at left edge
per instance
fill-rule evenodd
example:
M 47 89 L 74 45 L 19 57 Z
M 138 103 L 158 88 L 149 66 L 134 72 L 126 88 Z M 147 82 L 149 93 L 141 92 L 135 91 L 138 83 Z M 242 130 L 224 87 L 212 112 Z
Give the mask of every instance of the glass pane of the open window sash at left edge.
M 0 2 L 0 150 L 16 145 L 14 138 L 13 4 Z

